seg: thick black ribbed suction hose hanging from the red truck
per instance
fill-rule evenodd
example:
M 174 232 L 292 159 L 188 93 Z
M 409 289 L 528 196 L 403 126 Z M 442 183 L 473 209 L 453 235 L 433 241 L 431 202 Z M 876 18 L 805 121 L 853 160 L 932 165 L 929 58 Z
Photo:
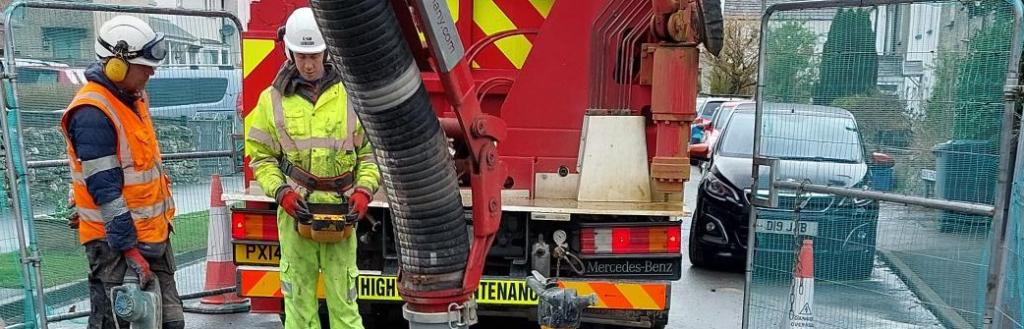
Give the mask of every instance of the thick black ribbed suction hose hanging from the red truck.
M 391 1 L 312 0 L 310 6 L 380 165 L 400 287 L 461 288 L 469 234 L 455 165 Z

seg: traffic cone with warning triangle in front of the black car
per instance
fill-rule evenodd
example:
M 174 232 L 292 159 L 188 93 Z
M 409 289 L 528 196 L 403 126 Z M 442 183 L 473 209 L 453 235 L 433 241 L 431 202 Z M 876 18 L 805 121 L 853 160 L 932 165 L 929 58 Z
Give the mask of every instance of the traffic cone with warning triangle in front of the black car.
M 814 246 L 804 240 L 797 255 L 797 269 L 793 273 L 787 326 L 791 329 L 814 328 Z

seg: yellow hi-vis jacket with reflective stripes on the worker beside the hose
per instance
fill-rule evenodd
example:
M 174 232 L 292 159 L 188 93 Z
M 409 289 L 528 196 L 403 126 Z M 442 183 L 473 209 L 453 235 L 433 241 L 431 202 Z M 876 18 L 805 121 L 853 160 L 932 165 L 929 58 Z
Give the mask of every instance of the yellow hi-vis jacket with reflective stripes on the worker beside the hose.
M 354 171 L 354 189 L 367 190 L 371 196 L 379 187 L 372 148 L 341 83 L 326 88 L 315 105 L 298 94 L 283 95 L 274 87 L 267 88 L 246 116 L 245 135 L 253 175 L 267 196 L 273 197 L 289 182 L 281 171 L 285 159 L 319 177 Z M 314 191 L 308 200 L 339 203 L 342 192 Z

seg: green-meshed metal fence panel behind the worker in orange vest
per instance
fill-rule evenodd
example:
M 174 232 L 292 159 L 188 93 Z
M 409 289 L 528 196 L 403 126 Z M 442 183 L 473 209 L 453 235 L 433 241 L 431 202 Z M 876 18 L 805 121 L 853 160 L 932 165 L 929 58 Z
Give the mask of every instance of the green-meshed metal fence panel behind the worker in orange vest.
M 111 7 L 106 7 L 111 8 Z M 118 13 L 80 8 L 15 7 L 7 33 L 13 38 L 16 99 L 28 161 L 67 158 L 60 116 L 75 92 L 95 70 L 93 52 L 99 26 Z M 164 33 L 168 58 L 146 85 L 151 114 L 164 154 L 230 151 L 232 131 L 241 129 L 237 107 L 242 96 L 241 33 L 229 18 L 204 15 L 131 13 Z M 207 256 L 208 210 L 212 174 L 224 189 L 242 189 L 241 172 L 230 158 L 165 161 L 173 181 L 177 215 L 171 243 L 178 264 L 181 294 L 203 291 Z M 41 254 L 42 286 L 50 317 L 89 309 L 88 265 L 76 231 L 67 227 L 67 166 L 28 169 L 34 230 Z M 0 234 L 6 233 L 0 221 Z M 0 236 L 0 240 L 6 235 Z M 0 261 L 9 254 L 0 252 Z M 7 266 L 3 266 L 6 271 Z M 0 302 L 6 285 L 0 276 Z M 18 295 L 17 297 L 24 297 Z M 17 298 L 12 298 L 12 300 Z M 0 310 L 6 310 L 0 304 Z M 20 320 L 10 319 L 10 323 Z M 84 320 L 77 320 L 84 324 Z

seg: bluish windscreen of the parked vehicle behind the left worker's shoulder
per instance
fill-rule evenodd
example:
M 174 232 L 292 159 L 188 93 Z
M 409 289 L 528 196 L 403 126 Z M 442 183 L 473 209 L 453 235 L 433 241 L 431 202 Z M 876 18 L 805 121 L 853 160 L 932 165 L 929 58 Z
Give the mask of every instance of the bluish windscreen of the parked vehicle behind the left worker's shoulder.
M 219 102 L 227 92 L 224 78 L 152 79 L 145 86 L 150 107 L 176 107 Z

